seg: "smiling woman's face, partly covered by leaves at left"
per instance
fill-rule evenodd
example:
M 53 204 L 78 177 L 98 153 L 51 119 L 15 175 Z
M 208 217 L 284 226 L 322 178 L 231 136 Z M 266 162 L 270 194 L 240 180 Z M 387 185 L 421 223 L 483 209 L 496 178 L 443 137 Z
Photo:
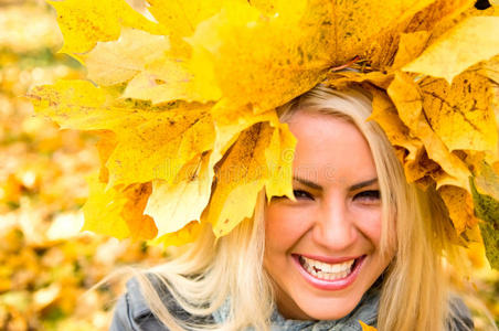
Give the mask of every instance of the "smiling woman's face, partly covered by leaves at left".
M 298 111 L 296 201 L 275 197 L 265 212 L 264 266 L 286 318 L 347 316 L 383 273 L 381 197 L 370 148 L 352 124 Z

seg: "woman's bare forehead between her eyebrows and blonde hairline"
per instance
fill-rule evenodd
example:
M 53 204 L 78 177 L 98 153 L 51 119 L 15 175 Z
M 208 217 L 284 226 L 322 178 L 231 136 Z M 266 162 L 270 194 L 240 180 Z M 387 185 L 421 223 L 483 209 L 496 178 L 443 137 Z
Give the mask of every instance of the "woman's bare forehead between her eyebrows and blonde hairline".
M 355 125 L 317 111 L 297 111 L 289 120 L 297 138 L 294 174 L 311 181 L 376 177 L 369 145 Z

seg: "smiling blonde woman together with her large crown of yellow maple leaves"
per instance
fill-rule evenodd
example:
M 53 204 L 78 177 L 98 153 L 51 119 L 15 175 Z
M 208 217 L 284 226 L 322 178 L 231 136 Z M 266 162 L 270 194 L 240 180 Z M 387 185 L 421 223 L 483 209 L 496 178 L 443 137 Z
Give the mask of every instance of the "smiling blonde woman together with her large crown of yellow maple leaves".
M 480 233 L 499 267 L 497 7 L 146 2 L 51 1 L 88 75 L 29 94 L 99 138 L 84 229 L 183 245 L 113 330 L 471 325 L 445 267 Z

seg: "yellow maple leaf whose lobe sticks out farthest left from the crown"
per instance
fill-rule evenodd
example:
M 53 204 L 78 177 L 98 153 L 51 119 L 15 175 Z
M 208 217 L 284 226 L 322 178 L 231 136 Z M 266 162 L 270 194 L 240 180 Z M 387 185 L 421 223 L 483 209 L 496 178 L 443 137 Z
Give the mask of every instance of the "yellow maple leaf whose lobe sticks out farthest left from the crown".
M 60 81 L 32 92 L 38 113 L 64 128 L 110 130 L 116 148 L 106 168 L 109 183 L 171 182 L 192 158 L 212 149 L 213 120 L 209 106 L 174 104 L 153 108 L 119 100 L 89 82 Z

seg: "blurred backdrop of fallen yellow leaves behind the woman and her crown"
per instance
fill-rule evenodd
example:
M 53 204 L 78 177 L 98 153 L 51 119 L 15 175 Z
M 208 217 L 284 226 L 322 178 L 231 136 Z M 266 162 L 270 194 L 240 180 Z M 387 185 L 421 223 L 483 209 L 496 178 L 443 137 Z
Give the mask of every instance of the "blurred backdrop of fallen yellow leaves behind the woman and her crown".
M 123 266 L 166 257 L 160 247 L 78 231 L 85 178 L 98 169 L 96 138 L 59 130 L 22 98 L 35 85 L 85 76 L 56 53 L 55 18 L 44 1 L 0 0 L 0 330 L 107 330 L 121 287 L 88 289 Z M 499 273 L 473 254 L 479 249 L 461 289 L 477 330 L 491 330 Z

